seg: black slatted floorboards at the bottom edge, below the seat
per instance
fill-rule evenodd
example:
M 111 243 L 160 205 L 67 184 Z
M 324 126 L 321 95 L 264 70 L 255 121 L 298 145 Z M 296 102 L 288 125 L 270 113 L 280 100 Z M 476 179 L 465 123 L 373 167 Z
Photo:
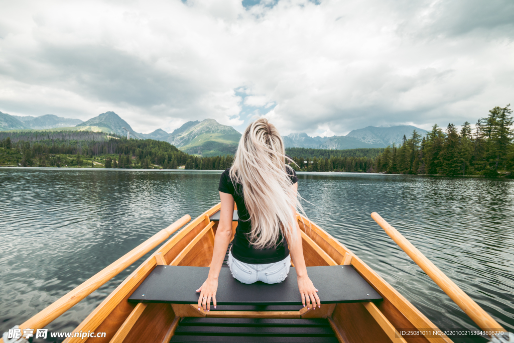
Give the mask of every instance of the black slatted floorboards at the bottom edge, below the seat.
M 336 343 L 326 319 L 181 318 L 171 342 Z

